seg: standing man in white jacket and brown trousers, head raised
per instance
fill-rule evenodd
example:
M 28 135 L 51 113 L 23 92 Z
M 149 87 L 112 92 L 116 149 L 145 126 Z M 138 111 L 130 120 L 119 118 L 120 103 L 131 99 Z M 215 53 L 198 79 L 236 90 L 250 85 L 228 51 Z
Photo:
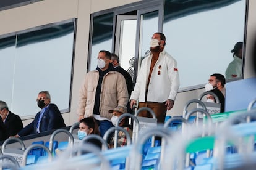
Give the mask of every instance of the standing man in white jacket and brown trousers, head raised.
M 166 51 L 163 33 L 155 33 L 150 42 L 150 55 L 142 60 L 139 75 L 130 97 L 130 107 L 139 102 L 138 108 L 151 108 L 158 123 L 164 123 L 166 111 L 173 108 L 179 89 L 176 60 Z M 147 111 L 139 116 L 150 117 Z

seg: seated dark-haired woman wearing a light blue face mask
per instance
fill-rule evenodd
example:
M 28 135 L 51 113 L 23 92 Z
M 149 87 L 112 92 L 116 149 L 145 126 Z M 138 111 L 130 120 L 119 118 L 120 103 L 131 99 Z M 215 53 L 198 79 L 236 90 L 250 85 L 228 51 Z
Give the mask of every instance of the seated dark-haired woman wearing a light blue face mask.
M 93 116 L 80 119 L 79 131 L 77 132 L 77 136 L 80 140 L 90 134 L 96 134 L 100 136 L 98 123 Z M 98 139 L 89 139 L 87 142 L 101 149 L 101 142 Z

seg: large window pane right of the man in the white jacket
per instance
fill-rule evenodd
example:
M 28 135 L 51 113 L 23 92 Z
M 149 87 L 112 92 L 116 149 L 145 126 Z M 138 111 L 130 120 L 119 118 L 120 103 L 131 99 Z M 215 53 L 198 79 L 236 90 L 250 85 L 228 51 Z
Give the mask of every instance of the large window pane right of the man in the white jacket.
M 244 39 L 246 1 L 165 1 L 166 51 L 177 60 L 180 89 L 225 75 L 231 49 Z

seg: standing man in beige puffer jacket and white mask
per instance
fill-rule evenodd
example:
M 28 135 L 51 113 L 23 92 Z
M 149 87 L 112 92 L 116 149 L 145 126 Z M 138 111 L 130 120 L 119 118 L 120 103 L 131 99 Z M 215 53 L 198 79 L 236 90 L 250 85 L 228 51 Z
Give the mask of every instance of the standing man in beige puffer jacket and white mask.
M 98 67 L 85 75 L 79 91 L 79 120 L 94 116 L 100 127 L 100 134 L 113 127 L 111 122 L 113 110 L 117 105 L 126 107 L 129 100 L 126 80 L 121 73 L 114 71 L 111 53 L 101 50 L 98 54 Z

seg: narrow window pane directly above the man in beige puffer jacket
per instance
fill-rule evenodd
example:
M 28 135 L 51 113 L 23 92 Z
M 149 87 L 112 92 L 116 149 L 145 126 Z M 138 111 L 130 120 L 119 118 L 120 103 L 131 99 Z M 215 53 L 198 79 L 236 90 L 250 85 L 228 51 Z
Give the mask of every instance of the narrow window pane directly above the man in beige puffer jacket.
M 111 52 L 113 35 L 113 12 L 93 17 L 92 47 L 87 71 L 97 67 L 97 56 L 100 50 Z

